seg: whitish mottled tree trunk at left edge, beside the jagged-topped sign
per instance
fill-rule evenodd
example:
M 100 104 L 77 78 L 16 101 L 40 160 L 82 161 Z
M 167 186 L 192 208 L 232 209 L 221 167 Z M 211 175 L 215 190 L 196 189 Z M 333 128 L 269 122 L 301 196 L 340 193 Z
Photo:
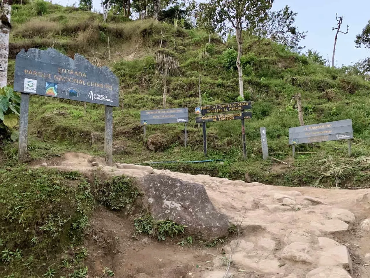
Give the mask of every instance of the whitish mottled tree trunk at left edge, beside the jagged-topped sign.
M 8 0 L 1 1 L 2 13 L 10 24 L 11 3 Z M 9 57 L 9 26 L 0 23 L 0 88 L 6 86 L 8 77 L 8 57 Z

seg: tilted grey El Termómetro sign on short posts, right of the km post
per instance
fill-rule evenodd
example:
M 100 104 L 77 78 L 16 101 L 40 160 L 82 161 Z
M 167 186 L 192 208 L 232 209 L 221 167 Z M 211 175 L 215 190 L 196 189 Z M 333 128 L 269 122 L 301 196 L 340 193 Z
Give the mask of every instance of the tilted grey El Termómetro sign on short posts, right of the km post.
M 289 145 L 293 146 L 293 156 L 297 144 L 345 139 L 348 140 L 348 155 L 351 156 L 351 139 L 353 139 L 351 119 L 289 128 Z

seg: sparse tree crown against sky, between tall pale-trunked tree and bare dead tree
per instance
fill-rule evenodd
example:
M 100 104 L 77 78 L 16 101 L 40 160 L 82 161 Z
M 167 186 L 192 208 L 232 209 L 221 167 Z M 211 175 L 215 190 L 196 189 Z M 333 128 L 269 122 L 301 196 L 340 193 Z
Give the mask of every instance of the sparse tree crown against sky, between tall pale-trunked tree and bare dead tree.
M 294 25 L 295 16 L 289 6 L 278 11 L 268 11 L 268 18 L 259 23 L 253 32 L 259 37 L 281 43 L 293 51 L 302 50 L 304 47 L 298 46 L 301 40 L 306 38 L 306 32 L 300 32 Z

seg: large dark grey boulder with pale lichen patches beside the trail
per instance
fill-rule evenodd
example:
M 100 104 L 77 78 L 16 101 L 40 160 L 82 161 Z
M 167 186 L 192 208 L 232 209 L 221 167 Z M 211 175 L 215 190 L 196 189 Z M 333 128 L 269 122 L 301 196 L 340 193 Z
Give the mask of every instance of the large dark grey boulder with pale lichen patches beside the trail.
M 155 220 L 170 219 L 188 226 L 186 231 L 204 240 L 228 234 L 229 221 L 216 211 L 203 185 L 166 175 L 149 174 L 138 179 Z

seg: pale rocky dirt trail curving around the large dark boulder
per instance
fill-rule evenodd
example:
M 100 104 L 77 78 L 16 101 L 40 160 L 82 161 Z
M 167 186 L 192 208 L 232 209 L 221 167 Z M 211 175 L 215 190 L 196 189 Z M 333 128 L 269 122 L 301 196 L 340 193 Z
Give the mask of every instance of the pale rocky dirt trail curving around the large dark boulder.
M 122 242 L 118 250 L 128 245 L 134 249 L 124 248 L 125 251 L 118 252 L 111 260 L 115 269 L 125 269 L 118 272 L 121 273 L 118 276 L 116 273 L 117 277 L 222 278 L 227 269 L 225 261 L 230 257 L 232 264 L 228 273 L 233 277 L 370 277 L 370 242 L 367 240 L 370 221 L 363 222 L 370 217 L 370 189 L 280 187 L 137 165 L 118 163 L 108 167 L 102 160 L 97 160 L 101 166 L 93 167 L 92 160 L 82 153 L 67 153 L 58 161 L 49 161 L 48 165 L 82 172 L 98 169 L 108 175 L 164 174 L 201 183 L 213 205 L 243 229 L 243 235 L 223 246 L 221 252 L 218 249 L 205 251 L 211 255 L 196 248 L 181 248 L 176 242 L 139 241 L 139 251 L 134 251 L 132 234 L 120 234 L 118 238 Z M 111 212 L 105 211 L 108 215 L 101 216 L 102 213 L 95 216 L 97 229 L 105 225 L 122 233 L 125 227 L 132 226 Z M 118 226 L 110 223 L 112 221 L 119 223 Z M 138 268 L 144 262 L 152 272 Z

